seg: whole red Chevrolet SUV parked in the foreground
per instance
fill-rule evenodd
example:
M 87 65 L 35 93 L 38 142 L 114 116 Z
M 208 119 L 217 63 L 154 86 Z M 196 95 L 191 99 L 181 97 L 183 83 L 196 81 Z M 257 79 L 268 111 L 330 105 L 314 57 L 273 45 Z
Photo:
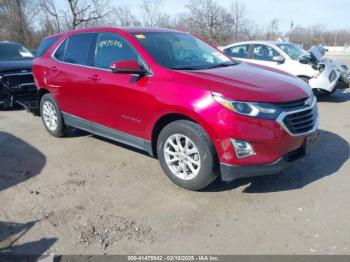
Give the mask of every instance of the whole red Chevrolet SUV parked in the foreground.
M 276 174 L 317 144 L 306 83 L 189 33 L 83 29 L 39 50 L 33 72 L 50 134 L 74 127 L 145 150 L 184 188 Z

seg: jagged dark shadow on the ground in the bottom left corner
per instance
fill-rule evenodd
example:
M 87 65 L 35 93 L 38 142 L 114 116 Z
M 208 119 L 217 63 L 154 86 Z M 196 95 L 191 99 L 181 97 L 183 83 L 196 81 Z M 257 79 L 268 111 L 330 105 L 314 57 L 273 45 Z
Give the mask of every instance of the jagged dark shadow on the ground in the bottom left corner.
M 5 259 L 6 255 L 9 255 L 9 260 L 5 259 L 4 261 L 12 261 L 10 257 L 12 255 L 31 255 L 30 261 L 37 261 L 37 258 L 42 256 L 57 241 L 57 238 L 42 238 L 37 241 L 17 245 L 16 242 L 22 236 L 24 236 L 37 222 L 38 221 L 31 221 L 28 223 L 20 224 L 0 221 L 1 259 Z M 24 258 L 22 257 L 21 259 Z

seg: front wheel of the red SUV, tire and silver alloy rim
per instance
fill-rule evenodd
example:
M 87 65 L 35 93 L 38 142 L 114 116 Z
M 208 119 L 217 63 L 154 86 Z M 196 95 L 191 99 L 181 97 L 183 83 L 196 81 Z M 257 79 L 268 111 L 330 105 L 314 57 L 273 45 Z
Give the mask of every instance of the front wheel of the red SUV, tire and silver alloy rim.
M 180 187 L 201 190 L 218 176 L 214 145 L 194 122 L 178 120 L 165 126 L 158 136 L 157 154 L 165 174 Z

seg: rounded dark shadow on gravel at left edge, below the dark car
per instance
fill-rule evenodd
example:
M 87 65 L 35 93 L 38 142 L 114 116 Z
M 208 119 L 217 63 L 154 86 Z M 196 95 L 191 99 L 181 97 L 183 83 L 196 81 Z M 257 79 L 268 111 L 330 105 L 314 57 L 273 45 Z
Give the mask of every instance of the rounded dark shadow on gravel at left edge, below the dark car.
M 26 181 L 38 174 L 46 157 L 22 139 L 0 132 L 0 191 Z

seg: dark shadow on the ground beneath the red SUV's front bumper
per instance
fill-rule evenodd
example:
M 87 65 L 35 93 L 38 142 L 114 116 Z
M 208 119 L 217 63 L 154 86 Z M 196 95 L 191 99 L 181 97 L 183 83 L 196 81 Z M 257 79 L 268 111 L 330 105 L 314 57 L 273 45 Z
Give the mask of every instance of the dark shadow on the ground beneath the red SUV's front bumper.
M 300 189 L 326 176 L 334 175 L 349 159 L 349 143 L 342 137 L 320 130 L 320 143 L 309 156 L 279 175 L 243 178 L 229 183 L 219 178 L 204 192 L 229 191 L 247 186 L 244 193 L 267 193 Z

